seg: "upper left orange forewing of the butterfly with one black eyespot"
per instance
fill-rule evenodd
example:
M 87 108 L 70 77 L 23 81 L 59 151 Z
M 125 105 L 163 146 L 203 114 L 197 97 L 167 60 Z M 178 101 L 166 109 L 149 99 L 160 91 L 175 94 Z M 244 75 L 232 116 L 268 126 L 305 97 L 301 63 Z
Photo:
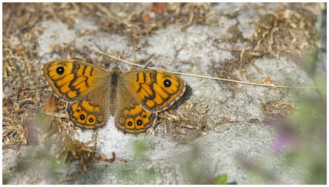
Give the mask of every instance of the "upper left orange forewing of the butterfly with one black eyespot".
M 83 98 L 97 86 L 104 86 L 110 72 L 77 60 L 53 60 L 43 67 L 43 74 L 55 94 L 65 101 Z

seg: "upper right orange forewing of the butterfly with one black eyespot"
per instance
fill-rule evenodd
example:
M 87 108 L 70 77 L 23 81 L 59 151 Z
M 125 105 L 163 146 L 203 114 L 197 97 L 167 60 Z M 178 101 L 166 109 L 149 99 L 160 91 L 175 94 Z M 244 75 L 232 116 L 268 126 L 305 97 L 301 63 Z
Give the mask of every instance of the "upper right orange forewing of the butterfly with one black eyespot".
M 128 91 L 147 111 L 152 112 L 164 111 L 172 106 L 186 88 L 182 78 L 161 70 L 133 70 L 123 72 L 122 77 Z

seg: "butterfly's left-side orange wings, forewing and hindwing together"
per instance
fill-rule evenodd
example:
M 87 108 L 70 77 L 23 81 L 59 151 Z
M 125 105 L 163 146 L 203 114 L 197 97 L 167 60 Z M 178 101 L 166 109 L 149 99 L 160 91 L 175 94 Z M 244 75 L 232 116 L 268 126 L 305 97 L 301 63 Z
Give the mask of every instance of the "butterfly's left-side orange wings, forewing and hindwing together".
M 67 114 L 74 125 L 83 130 L 100 128 L 110 115 L 111 79 L 106 69 L 77 60 L 53 60 L 43 67 L 45 79 L 58 98 L 68 102 Z

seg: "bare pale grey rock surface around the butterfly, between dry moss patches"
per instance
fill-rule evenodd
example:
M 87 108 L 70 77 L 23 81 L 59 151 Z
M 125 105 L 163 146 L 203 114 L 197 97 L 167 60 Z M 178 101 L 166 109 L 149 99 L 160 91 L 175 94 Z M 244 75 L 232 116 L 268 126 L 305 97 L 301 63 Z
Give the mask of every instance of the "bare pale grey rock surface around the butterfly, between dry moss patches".
M 147 6 L 143 4 L 142 6 Z M 238 21 L 239 28 L 245 38 L 253 34 L 254 25 L 248 21 L 257 18 L 256 13 L 245 10 L 244 4 L 215 4 L 211 7 L 217 14 L 229 13 L 236 7 L 240 7 Z M 273 8 L 271 5 L 268 8 Z M 234 26 L 235 19 L 221 16 L 218 26 L 204 26 L 193 24 L 184 32 L 179 24 L 172 24 L 167 28 L 157 30 L 157 35 L 152 34 L 145 38 L 140 52 L 135 53 L 130 59 L 145 58 L 155 54 L 150 60 L 154 67 L 175 72 L 198 74 L 213 77 L 209 67 L 233 56 L 228 50 L 232 46 L 219 43 L 219 47 L 228 50 L 218 50 L 212 45 L 209 38 L 228 38 L 227 32 L 230 26 Z M 43 21 L 40 24 L 48 28 L 40 35 L 38 54 L 45 56 L 43 62 L 58 58 L 50 57 L 52 45 L 74 42 L 67 30 L 62 29 L 55 21 Z M 129 38 L 121 35 L 113 35 L 100 31 L 91 21 L 79 18 L 79 23 L 71 30 L 79 33 L 79 30 L 89 28 L 95 30 L 91 35 L 85 35 L 81 40 L 93 45 L 96 42 L 105 52 L 121 52 L 134 50 Z M 84 46 L 75 41 L 78 49 Z M 235 49 L 243 47 L 242 42 L 237 42 Z M 99 57 L 91 54 L 88 58 Z M 175 62 L 170 64 L 171 62 Z M 267 57 L 255 61 L 260 72 L 249 66 L 243 71 L 249 79 L 257 82 L 265 77 L 270 77 L 277 85 L 313 86 L 306 72 L 294 68 L 286 57 L 268 59 Z M 127 64 L 120 64 L 121 70 L 128 69 Z M 238 74 L 238 72 L 237 72 Z M 264 103 L 275 100 L 289 102 L 296 101 L 298 94 L 314 94 L 313 90 L 271 89 L 263 86 L 237 84 L 239 92 L 233 92 L 223 86 L 221 81 L 202 79 L 190 76 L 181 76 L 189 86 L 187 97 L 175 108 L 177 113 L 182 113 L 182 103 L 194 104 L 196 111 L 206 108 L 206 135 L 199 136 L 195 140 L 182 144 L 172 137 L 173 133 L 165 133 L 164 125 L 157 125 L 155 136 L 130 137 L 118 132 L 113 125 L 113 118 L 108 120 L 106 128 L 99 130 L 97 135 L 97 151 L 106 155 L 116 153 L 116 161 L 113 163 L 97 162 L 88 168 L 86 174 L 79 175 L 78 179 L 65 181 L 68 184 L 191 184 L 204 183 L 220 174 L 228 174 L 228 182 L 238 184 L 247 183 L 279 183 L 295 184 L 304 183 L 303 179 L 308 174 L 307 166 L 301 161 L 286 166 L 285 154 L 274 153 L 270 148 L 277 136 L 276 130 L 266 123 L 250 123 L 252 119 L 262 120 L 262 106 Z M 248 81 L 245 77 L 240 77 Z M 181 118 L 189 116 L 179 115 Z M 221 120 L 228 119 L 223 125 Z M 91 140 L 91 132 L 80 132 L 79 138 L 83 142 Z M 40 142 L 43 142 L 42 137 Z M 135 144 L 145 145 L 142 156 L 136 154 Z M 60 179 L 72 176 L 77 171 L 78 162 L 55 166 L 50 159 L 35 159 L 35 152 L 48 152 L 40 146 L 23 146 L 19 150 L 6 149 L 3 151 L 3 180 L 11 184 L 50 184 L 57 183 Z M 49 153 L 53 154 L 53 153 Z M 30 158 L 30 159 L 27 159 Z M 126 159 L 127 162 L 120 161 Z M 246 164 L 247 163 L 247 164 Z M 26 164 L 31 167 L 25 167 Z M 249 165 L 248 165 L 249 164 Z M 260 173 L 266 173 L 268 177 L 257 174 L 247 166 L 260 166 Z M 265 175 L 266 175 L 265 174 Z

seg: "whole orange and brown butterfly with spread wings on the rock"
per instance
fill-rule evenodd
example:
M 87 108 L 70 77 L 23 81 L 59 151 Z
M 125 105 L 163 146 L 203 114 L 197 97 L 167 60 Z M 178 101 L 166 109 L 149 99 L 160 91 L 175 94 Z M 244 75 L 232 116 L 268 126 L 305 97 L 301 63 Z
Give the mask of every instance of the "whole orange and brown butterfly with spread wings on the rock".
M 55 96 L 67 102 L 67 115 L 82 130 L 97 130 L 114 115 L 123 134 L 154 134 L 157 113 L 182 97 L 184 80 L 154 69 L 120 72 L 79 60 L 52 60 L 43 66 L 43 76 Z

